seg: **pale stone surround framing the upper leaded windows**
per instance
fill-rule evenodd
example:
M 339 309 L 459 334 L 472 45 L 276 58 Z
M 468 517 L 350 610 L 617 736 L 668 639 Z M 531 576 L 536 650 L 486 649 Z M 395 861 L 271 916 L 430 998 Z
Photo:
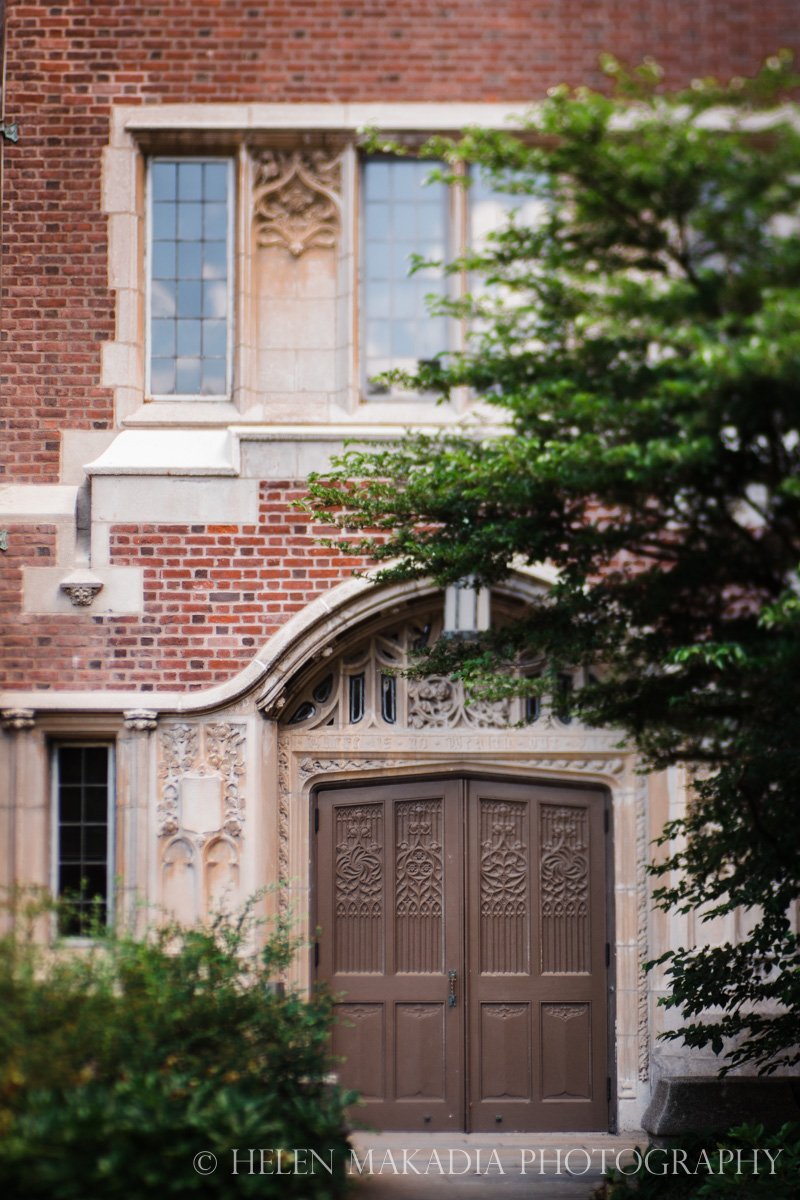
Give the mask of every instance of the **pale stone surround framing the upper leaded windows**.
M 109 145 L 103 151 L 102 203 L 108 216 L 109 287 L 116 293 L 116 336 L 102 350 L 102 384 L 113 389 L 115 424 L 228 425 L 281 420 L 259 404 L 254 377 L 254 238 L 252 197 L 253 149 L 267 145 L 342 146 L 342 230 L 338 248 L 339 320 L 347 328 L 339 384 L 325 424 L 446 424 L 463 410 L 465 397 L 451 406 L 414 398 L 362 402 L 355 360 L 357 328 L 356 250 L 359 162 L 356 133 L 365 126 L 401 131 L 420 138 L 456 133 L 465 125 L 507 127 L 518 122 L 524 104 L 158 104 L 115 106 Z M 145 395 L 145 155 L 230 154 L 235 160 L 235 293 L 234 391 L 229 402 L 215 400 L 148 400 Z M 463 224 L 463 196 L 453 196 L 453 224 Z M 341 302 L 341 301 L 339 301 Z M 309 418 L 320 424 L 319 416 Z

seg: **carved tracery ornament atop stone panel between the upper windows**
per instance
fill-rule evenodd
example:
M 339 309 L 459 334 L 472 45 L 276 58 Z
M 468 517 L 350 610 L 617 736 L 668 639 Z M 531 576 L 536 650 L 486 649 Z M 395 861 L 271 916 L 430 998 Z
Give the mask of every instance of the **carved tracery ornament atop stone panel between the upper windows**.
M 311 246 L 335 246 L 341 224 L 341 161 L 323 150 L 266 150 L 255 176 L 259 246 L 283 246 L 299 258 Z

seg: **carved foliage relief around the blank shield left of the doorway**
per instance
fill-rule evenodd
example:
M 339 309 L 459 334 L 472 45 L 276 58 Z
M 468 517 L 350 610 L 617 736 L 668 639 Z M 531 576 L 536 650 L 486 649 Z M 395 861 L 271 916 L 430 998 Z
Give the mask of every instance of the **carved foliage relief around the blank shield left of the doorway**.
M 199 841 L 218 833 L 229 838 L 241 836 L 245 822 L 245 728 L 227 721 L 212 725 L 192 725 L 179 721 L 164 725 L 160 736 L 158 774 L 158 836 L 173 838 L 184 829 L 181 816 L 181 784 L 216 776 L 222 781 L 222 823 L 217 829 L 203 832 Z

